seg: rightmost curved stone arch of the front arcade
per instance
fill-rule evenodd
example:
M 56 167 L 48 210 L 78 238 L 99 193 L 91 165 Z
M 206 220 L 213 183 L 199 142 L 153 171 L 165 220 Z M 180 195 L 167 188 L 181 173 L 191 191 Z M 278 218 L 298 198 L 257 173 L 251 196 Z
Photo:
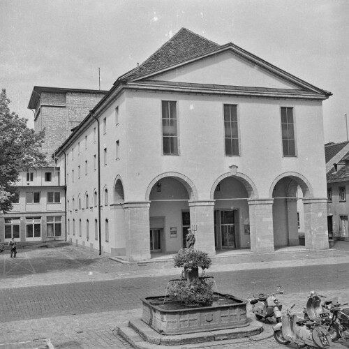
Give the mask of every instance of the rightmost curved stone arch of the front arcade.
M 300 174 L 298 172 L 284 172 L 280 174 L 278 177 L 276 177 L 276 179 L 274 179 L 274 181 L 272 182 L 272 185 L 269 189 L 270 199 L 273 198 L 273 191 L 276 183 L 278 183 L 278 181 L 285 177 L 289 177 L 290 179 L 292 179 L 292 181 L 290 181 L 290 183 L 288 184 L 287 188 L 287 193 L 290 198 L 295 197 L 297 193 L 297 186 L 300 186 L 302 188 L 304 199 L 313 198 L 313 187 L 311 186 L 308 179 L 306 179 L 306 177 L 303 176 L 303 174 Z

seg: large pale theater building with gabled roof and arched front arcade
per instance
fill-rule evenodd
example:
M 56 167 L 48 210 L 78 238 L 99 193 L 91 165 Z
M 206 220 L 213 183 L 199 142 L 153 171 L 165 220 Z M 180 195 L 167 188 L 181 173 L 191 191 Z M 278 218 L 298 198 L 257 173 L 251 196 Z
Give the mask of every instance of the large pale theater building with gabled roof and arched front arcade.
M 196 248 L 328 248 L 328 91 L 181 29 L 122 75 L 55 151 L 67 238 L 127 260 Z

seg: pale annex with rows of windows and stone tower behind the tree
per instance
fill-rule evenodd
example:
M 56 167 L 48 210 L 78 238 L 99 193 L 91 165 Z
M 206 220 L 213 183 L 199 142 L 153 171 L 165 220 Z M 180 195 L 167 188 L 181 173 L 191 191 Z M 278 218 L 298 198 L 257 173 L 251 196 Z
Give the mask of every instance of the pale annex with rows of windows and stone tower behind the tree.
M 52 154 L 106 92 L 34 87 L 28 107 L 34 110 L 35 131 L 45 128 L 43 152 L 51 167 L 20 174 L 17 202 L 12 211 L 0 214 L 0 242 L 11 237 L 26 244 L 66 241 L 65 174 Z

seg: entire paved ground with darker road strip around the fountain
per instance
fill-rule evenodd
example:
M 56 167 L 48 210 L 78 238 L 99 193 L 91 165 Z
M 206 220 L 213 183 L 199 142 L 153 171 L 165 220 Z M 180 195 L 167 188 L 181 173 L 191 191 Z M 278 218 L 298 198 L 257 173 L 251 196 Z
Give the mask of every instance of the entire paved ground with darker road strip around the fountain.
M 281 302 L 295 303 L 300 312 L 312 289 L 328 297 L 337 295 L 341 302 L 349 300 L 348 246 L 341 243 L 338 248 L 216 258 L 209 274 L 219 292 L 245 298 L 281 284 Z M 0 348 L 14 349 L 130 348 L 117 336 L 116 327 L 140 317 L 139 299 L 162 295 L 168 280 L 180 273 L 172 262 L 122 265 L 73 246 L 20 250 L 13 260 L 2 253 L 0 271 Z M 271 326 L 265 324 L 270 335 Z M 283 346 L 272 337 L 251 337 L 209 348 Z M 349 342 L 341 340 L 333 348 L 349 348 Z

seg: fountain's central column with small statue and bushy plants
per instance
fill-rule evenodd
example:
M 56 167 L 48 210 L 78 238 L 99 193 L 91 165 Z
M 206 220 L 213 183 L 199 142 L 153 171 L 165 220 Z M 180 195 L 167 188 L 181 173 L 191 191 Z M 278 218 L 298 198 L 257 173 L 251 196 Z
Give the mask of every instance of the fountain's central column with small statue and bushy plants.
M 205 269 L 211 266 L 211 258 L 203 251 L 193 248 L 195 237 L 187 236 L 187 248 L 181 248 L 174 256 L 174 267 L 183 268 L 181 280 L 170 285 L 168 295 L 186 306 L 209 306 L 214 299 L 213 281 L 205 277 Z M 199 268 L 202 269 L 201 277 Z

